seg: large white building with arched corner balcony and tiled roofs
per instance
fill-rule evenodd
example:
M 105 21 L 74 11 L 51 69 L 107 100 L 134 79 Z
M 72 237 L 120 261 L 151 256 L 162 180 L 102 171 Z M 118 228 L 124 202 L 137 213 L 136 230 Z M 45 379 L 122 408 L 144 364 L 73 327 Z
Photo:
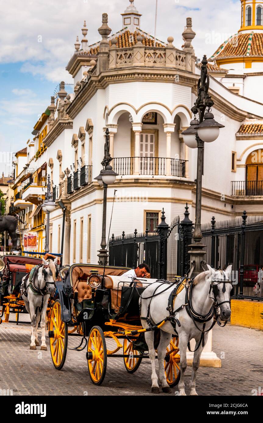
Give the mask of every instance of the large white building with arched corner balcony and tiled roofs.
M 213 114 L 225 127 L 216 141 L 205 145 L 202 222 L 212 216 L 216 220 L 234 218 L 244 209 L 248 214 L 263 212 L 263 165 L 259 161 L 263 104 L 261 88 L 257 88 L 263 77 L 263 47 L 258 44 L 263 36 L 259 20 L 262 6 L 253 2 L 249 20 L 246 3 L 252 2 L 242 0 L 243 23 L 235 52 L 230 39 L 212 56 L 215 63 L 209 64 Z M 255 11 L 260 25 L 255 25 Z M 141 27 L 143 16 L 131 0 L 122 14 L 122 30 L 116 34 L 111 34 L 108 15 L 102 14 L 98 30 L 102 39 L 97 44 L 89 46 L 84 22 L 81 45 L 77 38 L 66 66 L 74 81 L 74 94 L 67 94 L 61 82 L 57 99 L 52 98 L 36 123 L 33 143 L 28 144 L 29 168 L 36 168 L 35 176 L 40 177 L 40 170 L 50 174 L 57 190 L 54 198 L 67 207 L 64 263 L 97 262 L 103 190 L 94 178 L 102 167 L 106 128 L 112 165 L 119 173 L 114 185 L 108 187 L 107 233 L 114 190 L 111 233 L 115 235 L 135 228 L 138 232 L 146 228 L 152 231 L 163 207 L 166 221 L 171 222 L 178 214 L 183 216 L 186 202 L 194 220 L 197 150 L 185 146 L 181 135 L 192 119 L 200 74 L 191 44 L 195 36 L 191 18 L 183 31 L 182 49 L 174 47 L 172 36 L 167 42 L 154 40 Z M 251 37 L 254 29 L 257 33 Z M 246 37 L 250 49 L 244 58 Z M 40 205 L 42 187 L 29 185 L 28 189 L 32 192 L 26 199 Z M 26 190 L 22 198 L 25 196 Z M 50 223 L 50 251 L 56 253 L 62 233 L 58 204 L 50 214 Z

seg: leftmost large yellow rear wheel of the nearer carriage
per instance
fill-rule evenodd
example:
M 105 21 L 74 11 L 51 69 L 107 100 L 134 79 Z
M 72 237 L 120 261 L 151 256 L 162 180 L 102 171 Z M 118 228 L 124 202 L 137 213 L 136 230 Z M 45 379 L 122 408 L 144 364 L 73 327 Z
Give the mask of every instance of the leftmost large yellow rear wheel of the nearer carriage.
M 61 305 L 58 299 L 53 304 L 50 314 L 49 343 L 53 364 L 61 370 L 66 360 L 68 345 L 67 324 L 61 319 Z

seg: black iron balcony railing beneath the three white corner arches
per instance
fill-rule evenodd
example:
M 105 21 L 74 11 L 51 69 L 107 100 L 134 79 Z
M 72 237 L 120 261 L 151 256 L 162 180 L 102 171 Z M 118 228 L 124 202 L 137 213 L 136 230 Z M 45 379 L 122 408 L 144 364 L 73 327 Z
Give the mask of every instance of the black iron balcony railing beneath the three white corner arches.
M 187 160 L 166 157 L 115 157 L 113 169 L 119 175 L 163 175 L 185 178 Z

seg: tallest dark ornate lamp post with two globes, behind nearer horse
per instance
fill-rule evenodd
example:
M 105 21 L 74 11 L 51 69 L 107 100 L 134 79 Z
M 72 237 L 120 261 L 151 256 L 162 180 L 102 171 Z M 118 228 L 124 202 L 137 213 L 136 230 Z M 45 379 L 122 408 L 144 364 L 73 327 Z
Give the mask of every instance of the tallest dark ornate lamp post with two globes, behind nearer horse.
M 202 203 L 202 173 L 204 162 L 204 143 L 210 143 L 219 136 L 219 129 L 224 125 L 214 120 L 211 113 L 211 107 L 214 102 L 208 94 L 209 75 L 207 68 L 207 58 L 203 57 L 201 66 L 201 75 L 197 85 L 197 100 L 194 107 L 191 108 L 194 113 L 194 119 L 191 121 L 189 128 L 182 132 L 185 144 L 190 148 L 198 148 L 197 153 L 197 187 L 196 187 L 196 207 L 195 207 L 195 224 L 193 244 L 188 247 L 191 256 L 191 275 L 196 276 L 202 272 L 202 262 L 206 252 L 205 244 L 202 244 L 201 231 L 201 203 Z M 199 119 L 197 120 L 196 115 Z M 190 276 L 190 275 L 189 275 Z

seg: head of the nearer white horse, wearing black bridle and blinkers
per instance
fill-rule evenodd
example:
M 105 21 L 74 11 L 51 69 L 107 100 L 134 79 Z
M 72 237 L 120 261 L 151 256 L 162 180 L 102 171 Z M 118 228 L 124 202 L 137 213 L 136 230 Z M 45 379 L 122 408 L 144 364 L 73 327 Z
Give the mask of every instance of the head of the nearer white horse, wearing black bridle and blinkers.
M 220 319 L 226 321 L 231 315 L 230 295 L 233 289 L 231 282 L 232 264 L 227 266 L 226 270 L 212 269 L 209 264 L 207 266 L 209 269 L 208 278 L 213 289 L 213 297 L 220 308 Z

